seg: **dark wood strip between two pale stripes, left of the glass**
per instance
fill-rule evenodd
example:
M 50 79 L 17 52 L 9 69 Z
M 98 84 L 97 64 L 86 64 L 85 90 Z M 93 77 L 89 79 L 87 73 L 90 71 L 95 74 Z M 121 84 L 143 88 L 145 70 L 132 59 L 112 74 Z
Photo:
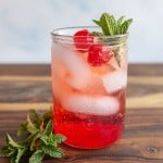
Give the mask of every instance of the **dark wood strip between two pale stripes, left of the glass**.
M 51 102 L 51 82 L 0 80 L 0 103 Z

